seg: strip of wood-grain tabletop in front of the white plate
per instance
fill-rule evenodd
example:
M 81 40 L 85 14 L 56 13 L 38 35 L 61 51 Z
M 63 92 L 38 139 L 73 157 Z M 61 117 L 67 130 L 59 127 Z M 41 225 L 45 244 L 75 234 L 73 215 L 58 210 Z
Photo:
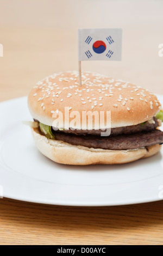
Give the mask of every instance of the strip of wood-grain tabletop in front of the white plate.
M 163 202 L 65 207 L 0 201 L 1 245 L 162 245 Z

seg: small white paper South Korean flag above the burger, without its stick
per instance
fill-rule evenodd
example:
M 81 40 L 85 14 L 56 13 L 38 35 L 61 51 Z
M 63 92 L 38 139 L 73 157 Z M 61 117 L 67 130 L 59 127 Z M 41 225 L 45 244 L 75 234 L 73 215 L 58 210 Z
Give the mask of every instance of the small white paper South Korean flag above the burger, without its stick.
M 78 29 L 78 53 L 79 61 L 122 60 L 122 29 Z

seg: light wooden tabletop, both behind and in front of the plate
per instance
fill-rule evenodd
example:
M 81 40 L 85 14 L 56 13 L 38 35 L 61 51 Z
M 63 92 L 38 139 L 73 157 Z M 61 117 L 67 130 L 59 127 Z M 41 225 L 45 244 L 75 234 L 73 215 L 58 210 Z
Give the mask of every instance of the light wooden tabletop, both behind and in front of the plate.
M 123 28 L 122 62 L 84 62 L 83 70 L 163 94 L 163 58 L 158 56 L 163 2 L 102 1 L 0 1 L 4 46 L 0 101 L 27 95 L 38 80 L 53 72 L 78 69 L 78 27 Z M 0 199 L 0 245 L 162 245 L 162 212 L 163 201 L 84 208 L 4 198 Z

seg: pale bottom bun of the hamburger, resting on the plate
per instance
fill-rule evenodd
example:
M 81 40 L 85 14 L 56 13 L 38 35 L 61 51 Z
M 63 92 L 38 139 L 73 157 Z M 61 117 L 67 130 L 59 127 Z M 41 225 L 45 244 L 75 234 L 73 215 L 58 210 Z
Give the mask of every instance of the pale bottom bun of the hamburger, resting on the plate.
M 33 137 L 40 152 L 54 162 L 71 165 L 121 164 L 153 156 L 161 145 L 134 150 L 106 150 L 74 146 L 62 141 L 47 139 L 38 129 L 32 128 Z

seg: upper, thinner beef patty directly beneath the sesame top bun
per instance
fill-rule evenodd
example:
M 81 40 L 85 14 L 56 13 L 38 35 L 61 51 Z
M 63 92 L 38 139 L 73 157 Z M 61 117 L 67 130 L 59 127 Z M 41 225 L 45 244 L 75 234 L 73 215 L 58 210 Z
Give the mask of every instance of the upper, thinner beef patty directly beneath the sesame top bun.
M 155 130 L 159 126 L 159 121 L 154 117 L 155 124 L 150 124 L 149 122 L 145 122 L 143 124 L 132 125 L 132 126 L 125 126 L 125 127 L 118 127 L 111 129 L 111 136 L 122 135 L 122 134 L 131 134 L 143 131 L 152 131 Z M 53 129 L 52 129 L 53 130 Z M 102 130 L 63 130 L 62 133 L 71 133 L 75 135 L 97 135 L 101 136 Z

